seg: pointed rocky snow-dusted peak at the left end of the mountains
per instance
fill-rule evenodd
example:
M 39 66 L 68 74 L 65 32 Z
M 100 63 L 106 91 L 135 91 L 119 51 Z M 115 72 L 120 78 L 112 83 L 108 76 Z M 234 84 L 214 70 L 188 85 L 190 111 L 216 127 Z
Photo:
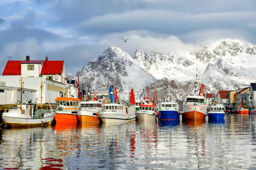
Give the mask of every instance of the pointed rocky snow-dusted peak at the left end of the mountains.
M 76 76 L 84 84 L 90 81 L 89 88 L 103 90 L 103 85 L 115 83 L 121 97 L 128 96 L 128 88 L 141 88 L 156 79 L 141 67 L 134 59 L 118 47 L 109 47 L 97 59 L 91 60 L 87 66 L 78 71 Z

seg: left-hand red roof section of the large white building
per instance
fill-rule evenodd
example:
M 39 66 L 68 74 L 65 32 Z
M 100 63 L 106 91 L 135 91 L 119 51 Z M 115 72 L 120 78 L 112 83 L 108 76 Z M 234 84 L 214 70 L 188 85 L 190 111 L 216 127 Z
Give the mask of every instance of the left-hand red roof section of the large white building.
M 5 65 L 3 75 L 21 75 L 20 62 L 22 61 L 8 61 Z

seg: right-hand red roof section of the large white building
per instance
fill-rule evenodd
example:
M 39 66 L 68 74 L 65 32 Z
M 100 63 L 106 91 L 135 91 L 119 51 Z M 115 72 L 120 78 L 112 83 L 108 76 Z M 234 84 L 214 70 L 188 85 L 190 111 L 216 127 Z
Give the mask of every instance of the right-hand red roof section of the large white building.
M 41 75 L 61 75 L 64 61 L 45 61 Z

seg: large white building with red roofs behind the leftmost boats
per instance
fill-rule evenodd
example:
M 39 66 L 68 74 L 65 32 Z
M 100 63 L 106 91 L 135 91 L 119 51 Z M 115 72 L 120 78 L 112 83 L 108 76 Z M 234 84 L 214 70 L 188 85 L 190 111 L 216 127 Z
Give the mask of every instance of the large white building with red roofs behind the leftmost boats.
M 24 61 L 8 61 L 0 82 L 4 82 L 6 87 L 20 88 L 21 77 L 24 88 L 36 90 L 35 103 L 41 101 L 41 81 L 43 103 L 47 104 L 48 100 L 55 103 L 56 97 L 60 96 L 78 97 L 77 85 L 67 84 L 64 61 L 49 61 L 48 57 L 46 60 L 30 60 L 29 56 Z

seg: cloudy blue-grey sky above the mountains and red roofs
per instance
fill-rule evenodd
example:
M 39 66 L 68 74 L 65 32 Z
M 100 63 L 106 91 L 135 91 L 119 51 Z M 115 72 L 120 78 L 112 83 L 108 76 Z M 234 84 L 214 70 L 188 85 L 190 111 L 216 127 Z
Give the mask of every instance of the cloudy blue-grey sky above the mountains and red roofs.
M 256 44 L 255 0 L 0 0 L 1 73 L 8 57 L 47 55 L 74 74 L 111 45 L 133 56 L 224 38 Z

